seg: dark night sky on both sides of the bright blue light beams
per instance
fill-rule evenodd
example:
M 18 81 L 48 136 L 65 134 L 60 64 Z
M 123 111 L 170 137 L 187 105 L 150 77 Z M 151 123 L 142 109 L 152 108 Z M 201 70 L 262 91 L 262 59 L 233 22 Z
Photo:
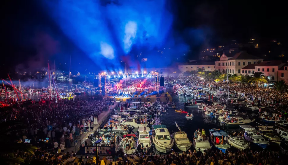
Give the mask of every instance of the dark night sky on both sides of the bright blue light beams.
M 1 74 L 27 67 L 38 68 L 54 59 L 68 65 L 69 50 L 75 45 L 35 2 L 1 1 Z M 204 29 L 203 43 L 195 46 L 195 40 L 184 39 L 194 47 L 195 54 L 202 45 L 217 46 L 232 39 L 247 42 L 250 37 L 256 37 L 267 41 L 276 39 L 283 45 L 287 43 L 287 9 L 276 1 L 174 0 L 171 3 L 170 10 L 176 18 L 173 27 L 177 33 L 187 28 Z M 65 55 L 61 53 L 63 51 Z M 93 65 L 85 55 L 81 56 L 82 61 Z M 65 68 L 69 69 L 68 66 L 62 69 Z

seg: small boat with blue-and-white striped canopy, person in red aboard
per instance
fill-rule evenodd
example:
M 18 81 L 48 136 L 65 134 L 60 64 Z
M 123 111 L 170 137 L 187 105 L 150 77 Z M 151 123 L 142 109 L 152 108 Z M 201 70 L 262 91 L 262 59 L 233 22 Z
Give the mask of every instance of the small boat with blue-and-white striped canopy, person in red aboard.
M 209 130 L 210 132 L 210 138 L 211 138 L 211 143 L 218 148 L 219 150 L 221 150 L 223 153 L 226 153 L 226 150 L 228 150 L 229 148 L 231 148 L 229 146 L 229 144 L 227 143 L 227 137 L 228 134 L 226 132 L 224 132 L 223 130 L 218 130 L 218 129 L 211 129 Z M 219 138 L 219 143 L 217 143 L 216 138 Z

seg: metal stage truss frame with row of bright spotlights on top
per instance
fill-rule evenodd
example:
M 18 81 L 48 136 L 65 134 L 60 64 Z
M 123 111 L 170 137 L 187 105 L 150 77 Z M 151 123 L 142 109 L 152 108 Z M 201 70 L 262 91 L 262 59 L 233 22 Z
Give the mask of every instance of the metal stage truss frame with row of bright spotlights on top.
M 102 84 L 101 84 L 101 79 L 102 77 L 105 78 L 105 82 L 104 82 L 104 91 L 106 93 L 106 89 L 107 89 L 107 77 L 110 76 L 110 77 L 113 77 L 113 76 L 117 76 L 118 78 L 122 77 L 126 77 L 127 76 L 134 76 L 136 75 L 137 77 L 136 78 L 144 78 L 144 77 L 147 77 L 147 76 L 152 76 L 152 77 L 156 77 L 156 84 L 155 84 L 155 88 L 156 88 L 156 92 L 157 94 L 159 94 L 159 88 L 160 88 L 160 83 L 159 83 L 159 75 L 162 75 L 163 73 L 162 72 L 159 72 L 159 71 L 151 71 L 151 72 L 146 72 L 144 71 L 143 74 L 142 73 L 138 73 L 138 72 L 135 72 L 135 73 L 122 73 L 122 72 L 119 72 L 119 73 L 114 73 L 114 72 L 111 72 L 111 73 L 106 73 L 106 72 L 102 72 L 102 73 L 99 73 L 98 74 L 98 79 L 99 79 L 99 84 L 100 84 L 100 93 L 102 92 L 101 88 L 102 88 Z M 140 76 L 139 76 L 140 75 Z

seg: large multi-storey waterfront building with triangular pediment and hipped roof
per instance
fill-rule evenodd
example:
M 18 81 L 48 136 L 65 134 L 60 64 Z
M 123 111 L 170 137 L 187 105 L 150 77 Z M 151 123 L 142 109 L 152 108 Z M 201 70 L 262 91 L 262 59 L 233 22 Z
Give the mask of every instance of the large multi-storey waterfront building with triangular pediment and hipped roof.
M 241 69 L 249 64 L 256 64 L 258 61 L 263 59 L 256 57 L 254 55 L 248 54 L 246 52 L 239 52 L 235 55 L 223 54 L 219 61 L 215 61 L 215 70 L 222 73 L 229 74 L 241 74 Z

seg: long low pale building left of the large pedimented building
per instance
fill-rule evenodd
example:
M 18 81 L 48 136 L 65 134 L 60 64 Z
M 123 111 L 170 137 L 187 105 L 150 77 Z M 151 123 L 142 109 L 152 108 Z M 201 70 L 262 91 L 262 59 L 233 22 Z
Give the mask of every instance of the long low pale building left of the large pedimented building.
M 215 71 L 215 63 L 214 62 L 205 62 L 205 61 L 194 61 L 191 63 L 183 63 L 178 65 L 178 69 L 182 71 L 182 73 L 186 71 L 197 71 L 199 68 L 205 69 L 205 71 Z

